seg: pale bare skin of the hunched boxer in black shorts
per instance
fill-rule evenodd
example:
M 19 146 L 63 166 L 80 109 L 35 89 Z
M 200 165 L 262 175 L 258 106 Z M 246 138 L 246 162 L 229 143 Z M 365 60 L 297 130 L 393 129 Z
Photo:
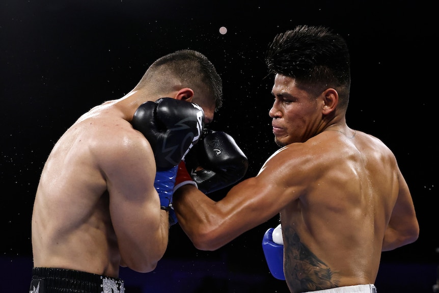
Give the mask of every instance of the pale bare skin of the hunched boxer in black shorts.
M 115 278 L 120 265 L 155 269 L 168 245 L 169 222 L 154 188 L 153 151 L 130 124 L 145 95 L 134 90 L 96 106 L 54 146 L 34 203 L 34 267 Z M 187 88 L 164 96 L 193 101 Z M 210 122 L 214 104 L 197 101 Z

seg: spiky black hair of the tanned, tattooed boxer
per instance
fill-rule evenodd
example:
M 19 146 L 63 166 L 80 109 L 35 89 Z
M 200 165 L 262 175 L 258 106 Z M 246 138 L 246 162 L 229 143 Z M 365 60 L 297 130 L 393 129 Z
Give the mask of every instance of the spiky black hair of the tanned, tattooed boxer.
M 269 44 L 265 63 L 269 73 L 296 79 L 315 95 L 327 88 L 339 94 L 346 108 L 350 89 L 350 56 L 346 41 L 324 26 L 298 25 L 276 35 Z

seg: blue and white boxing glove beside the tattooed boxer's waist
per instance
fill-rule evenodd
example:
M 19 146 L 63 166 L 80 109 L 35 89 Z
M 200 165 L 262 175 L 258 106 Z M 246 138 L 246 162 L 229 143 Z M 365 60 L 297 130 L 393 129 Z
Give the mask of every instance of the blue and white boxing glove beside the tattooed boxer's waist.
M 265 232 L 262 238 L 262 250 L 264 251 L 271 275 L 278 280 L 285 280 L 284 241 L 282 238 L 281 224 Z

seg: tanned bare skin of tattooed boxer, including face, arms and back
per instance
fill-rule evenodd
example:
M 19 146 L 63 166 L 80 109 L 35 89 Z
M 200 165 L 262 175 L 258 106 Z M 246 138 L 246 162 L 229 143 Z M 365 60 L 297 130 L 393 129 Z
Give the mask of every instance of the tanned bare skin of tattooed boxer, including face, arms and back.
M 395 156 L 346 125 L 336 90 L 311 97 L 278 74 L 272 94 L 269 115 L 282 148 L 217 202 L 192 185 L 180 188 L 180 226 L 198 249 L 215 250 L 280 213 L 291 292 L 374 283 L 381 251 L 419 234 Z

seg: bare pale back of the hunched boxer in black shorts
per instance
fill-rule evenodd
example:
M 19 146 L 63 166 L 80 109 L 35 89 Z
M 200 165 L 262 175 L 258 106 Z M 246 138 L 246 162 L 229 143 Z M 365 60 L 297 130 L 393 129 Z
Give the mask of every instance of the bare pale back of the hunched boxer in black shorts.
M 108 104 L 97 106 L 80 117 L 51 151 L 34 203 L 35 267 L 117 276 L 120 256 L 100 166 L 103 156 L 114 155 L 106 150 L 117 137 L 116 122 L 128 123 Z

